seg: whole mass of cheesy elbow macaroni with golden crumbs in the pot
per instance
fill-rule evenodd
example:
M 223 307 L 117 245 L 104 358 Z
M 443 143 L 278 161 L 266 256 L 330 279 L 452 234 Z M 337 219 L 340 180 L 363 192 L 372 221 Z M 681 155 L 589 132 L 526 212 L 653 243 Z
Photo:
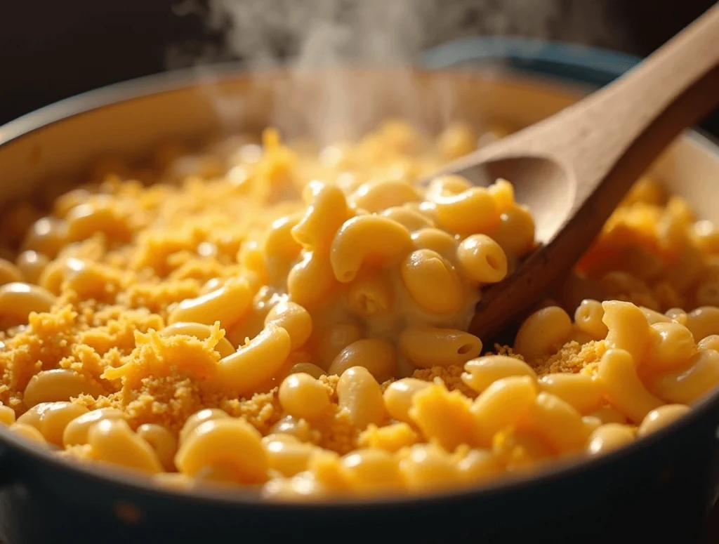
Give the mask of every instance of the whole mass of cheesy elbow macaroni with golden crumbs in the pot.
M 531 211 L 507 180 L 416 183 L 476 141 L 388 121 L 311 157 L 267 130 L 2 216 L 0 423 L 278 500 L 475 485 L 681 424 L 719 384 L 716 229 L 640 180 L 571 308 L 482 346 L 467 327 L 535 246 Z

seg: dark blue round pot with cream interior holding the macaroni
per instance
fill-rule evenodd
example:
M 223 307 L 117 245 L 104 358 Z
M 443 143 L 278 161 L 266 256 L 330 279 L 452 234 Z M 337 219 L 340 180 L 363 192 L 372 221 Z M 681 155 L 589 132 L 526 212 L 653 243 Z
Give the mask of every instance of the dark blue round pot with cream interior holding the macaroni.
M 507 63 L 480 71 L 309 75 L 247 75 L 226 66 L 147 78 L 58 103 L 0 128 L 0 203 L 81 180 L 83 168 L 104 153 L 141 157 L 168 137 L 202 139 L 269 123 L 289 134 L 334 139 L 388 114 L 430 129 L 449 119 L 521 126 L 586 90 L 523 74 Z M 700 216 L 719 221 L 706 198 L 707 180 L 719 175 L 719 155 L 707 139 L 682 138 L 656 172 Z M 531 480 L 401 501 L 322 505 L 266 504 L 236 490 L 168 492 L 134 474 L 68 464 L 0 430 L 4 537 L 190 542 L 307 533 L 351 541 L 593 541 L 675 535 L 686 541 L 715 497 L 718 408 L 714 395 L 650 438 Z

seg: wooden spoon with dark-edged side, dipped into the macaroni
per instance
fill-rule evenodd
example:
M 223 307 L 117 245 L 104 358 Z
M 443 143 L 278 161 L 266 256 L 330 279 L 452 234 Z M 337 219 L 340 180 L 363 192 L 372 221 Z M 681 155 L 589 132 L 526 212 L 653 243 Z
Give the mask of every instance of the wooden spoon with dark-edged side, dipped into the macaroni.
M 566 277 L 633 182 L 718 105 L 716 4 L 614 83 L 442 170 L 510 180 L 541 244 L 485 290 L 470 331 L 493 338 Z

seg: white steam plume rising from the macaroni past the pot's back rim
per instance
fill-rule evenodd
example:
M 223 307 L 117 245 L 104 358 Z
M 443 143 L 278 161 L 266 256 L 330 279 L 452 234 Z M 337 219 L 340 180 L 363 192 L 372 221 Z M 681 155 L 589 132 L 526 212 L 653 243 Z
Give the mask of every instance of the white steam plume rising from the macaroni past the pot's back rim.
M 208 21 L 225 27 L 226 47 L 260 74 L 255 91 L 273 99 L 271 124 L 290 137 L 330 142 L 357 137 L 388 115 L 426 124 L 409 68 L 439 11 L 453 9 L 436 0 L 209 0 Z M 289 68 L 289 80 L 262 78 L 278 65 Z M 391 75 L 336 70 L 364 67 Z M 437 103 L 451 101 L 438 92 Z M 220 107 L 229 119 L 227 104 Z

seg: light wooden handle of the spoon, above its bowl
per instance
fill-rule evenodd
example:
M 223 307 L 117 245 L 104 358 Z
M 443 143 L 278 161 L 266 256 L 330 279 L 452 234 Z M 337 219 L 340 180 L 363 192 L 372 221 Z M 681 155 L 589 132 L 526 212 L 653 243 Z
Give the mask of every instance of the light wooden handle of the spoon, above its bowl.
M 618 202 L 657 152 L 718 103 L 719 3 L 644 63 L 553 120 L 574 121 L 572 141 L 550 144 L 576 175 L 574 210 L 601 183 L 613 187 L 603 193 L 619 195 Z

